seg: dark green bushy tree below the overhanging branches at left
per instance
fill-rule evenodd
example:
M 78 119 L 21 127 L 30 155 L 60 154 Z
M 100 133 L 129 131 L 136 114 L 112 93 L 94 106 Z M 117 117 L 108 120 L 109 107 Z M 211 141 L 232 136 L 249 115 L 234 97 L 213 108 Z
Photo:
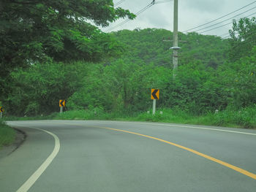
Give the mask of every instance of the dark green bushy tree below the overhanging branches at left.
M 12 115 L 39 115 L 59 110 L 59 99 L 68 99 L 83 87 L 87 70 L 82 62 L 45 62 L 12 72 L 12 92 L 4 100 Z

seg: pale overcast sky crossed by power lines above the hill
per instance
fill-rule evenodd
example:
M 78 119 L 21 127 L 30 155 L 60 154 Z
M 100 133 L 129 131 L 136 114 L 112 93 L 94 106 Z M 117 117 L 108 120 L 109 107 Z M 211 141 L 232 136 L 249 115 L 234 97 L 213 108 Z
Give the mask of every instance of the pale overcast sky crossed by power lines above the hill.
M 114 0 L 114 4 L 121 0 Z M 123 9 L 129 9 L 131 12 L 136 13 L 146 7 L 146 5 L 150 4 L 152 0 L 125 0 L 118 7 L 122 7 Z M 156 0 L 163 1 L 163 0 Z M 241 7 L 246 6 L 254 2 L 253 0 L 178 0 L 178 31 L 186 31 L 189 28 L 193 28 L 195 26 L 200 26 L 204 23 L 207 23 L 211 20 L 217 19 L 226 15 L 230 12 L 235 11 Z M 254 8 L 255 9 L 252 9 Z M 254 4 L 241 9 L 238 12 L 233 13 L 232 15 L 228 15 L 225 18 L 217 20 L 214 23 L 219 23 L 222 20 L 226 20 L 228 18 L 232 18 L 235 15 L 240 14 L 241 12 L 245 12 L 246 10 L 252 9 L 243 15 L 239 15 L 236 18 L 246 17 L 247 15 L 253 14 L 256 15 L 256 1 Z M 252 16 L 251 16 L 252 17 Z M 250 18 L 251 18 L 250 17 Z M 123 20 L 118 20 L 116 23 L 111 23 L 110 27 L 116 26 L 118 23 L 121 23 Z M 217 26 L 225 25 L 226 23 L 230 23 L 232 19 L 220 23 Z M 213 25 L 214 23 L 209 24 Z M 212 26 L 211 28 L 215 28 L 217 26 Z M 228 29 L 230 29 L 232 24 L 217 28 L 212 31 L 205 32 L 203 34 L 211 34 L 221 36 L 223 34 L 228 33 Z M 109 32 L 110 28 L 102 28 L 102 31 Z M 203 26 L 207 27 L 207 26 Z M 201 27 L 201 28 L 203 28 Z M 165 28 L 167 30 L 173 31 L 173 1 L 168 1 L 162 4 L 154 4 L 149 9 L 146 9 L 145 12 L 138 15 L 135 20 L 131 20 L 124 25 L 121 25 L 118 28 L 113 29 L 112 31 L 118 31 L 121 29 L 130 29 L 133 30 L 135 28 Z M 206 28 L 205 30 L 198 31 L 203 32 L 211 28 Z M 195 30 L 200 29 L 196 28 Z M 226 35 L 227 36 L 227 35 Z M 225 37 L 222 36 L 222 37 Z

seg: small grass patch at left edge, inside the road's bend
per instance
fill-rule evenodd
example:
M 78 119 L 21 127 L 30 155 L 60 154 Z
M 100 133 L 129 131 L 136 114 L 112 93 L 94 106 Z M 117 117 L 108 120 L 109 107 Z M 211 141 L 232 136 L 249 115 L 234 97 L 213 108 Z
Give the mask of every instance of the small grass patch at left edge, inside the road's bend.
M 15 131 L 10 126 L 0 120 L 0 148 L 4 145 L 10 145 L 15 139 Z

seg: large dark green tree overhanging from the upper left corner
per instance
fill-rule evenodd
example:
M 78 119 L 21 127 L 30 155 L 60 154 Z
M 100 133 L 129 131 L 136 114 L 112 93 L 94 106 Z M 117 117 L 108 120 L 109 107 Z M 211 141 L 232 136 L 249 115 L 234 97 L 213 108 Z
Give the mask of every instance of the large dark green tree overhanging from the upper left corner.
M 0 1 L 1 96 L 10 72 L 37 61 L 101 61 L 118 55 L 120 45 L 96 26 L 135 18 L 112 0 Z

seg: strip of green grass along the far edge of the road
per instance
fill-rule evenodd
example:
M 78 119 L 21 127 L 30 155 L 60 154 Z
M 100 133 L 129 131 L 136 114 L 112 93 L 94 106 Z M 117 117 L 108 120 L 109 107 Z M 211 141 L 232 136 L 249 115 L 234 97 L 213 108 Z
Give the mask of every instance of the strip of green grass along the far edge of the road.
M 162 111 L 162 114 L 160 112 Z M 206 126 L 228 126 L 237 128 L 256 128 L 256 105 L 246 107 L 239 111 L 224 110 L 213 113 L 208 112 L 204 115 L 193 115 L 183 110 L 159 109 L 156 115 L 147 112 L 105 112 L 99 108 L 94 110 L 73 110 L 63 113 L 55 112 L 48 116 L 26 117 L 26 118 L 8 118 L 8 120 L 133 120 L 133 121 L 151 121 L 163 123 L 184 123 Z

